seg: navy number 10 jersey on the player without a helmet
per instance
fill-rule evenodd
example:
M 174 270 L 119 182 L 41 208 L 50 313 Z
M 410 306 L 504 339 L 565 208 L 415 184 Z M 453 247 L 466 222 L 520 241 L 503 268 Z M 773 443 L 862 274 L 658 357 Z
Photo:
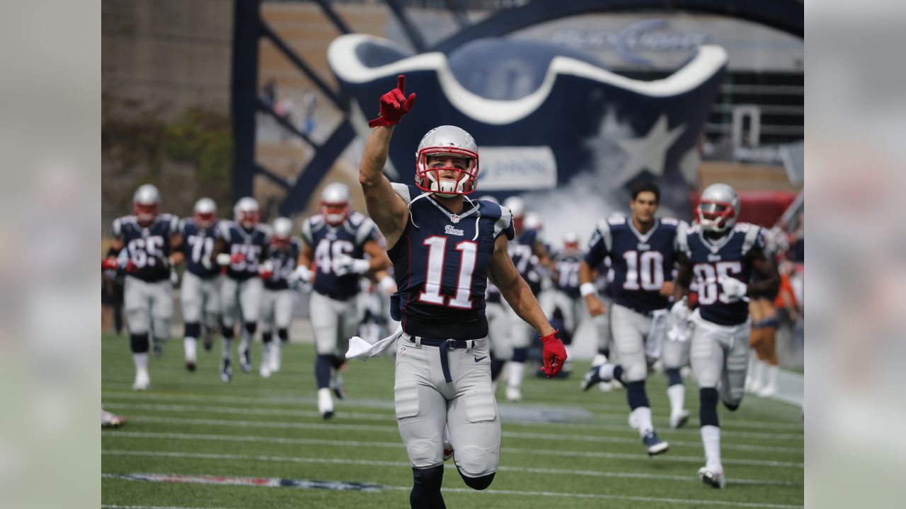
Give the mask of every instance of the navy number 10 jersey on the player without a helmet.
M 670 304 L 660 294 L 660 287 L 673 279 L 679 226 L 679 219 L 660 217 L 648 233 L 641 235 L 628 217 L 611 217 L 598 223 L 585 262 L 593 267 L 605 256 L 610 257 L 614 303 L 645 313 Z

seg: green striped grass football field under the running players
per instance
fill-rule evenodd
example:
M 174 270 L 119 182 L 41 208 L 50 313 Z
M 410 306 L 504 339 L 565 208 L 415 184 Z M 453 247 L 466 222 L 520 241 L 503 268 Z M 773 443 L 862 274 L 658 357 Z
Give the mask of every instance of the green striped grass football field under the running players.
M 126 337 L 105 335 L 101 402 L 129 419 L 104 429 L 101 500 L 105 507 L 279 508 L 408 507 L 411 470 L 393 415 L 389 359 L 352 361 L 345 374 L 349 399 L 324 421 L 314 394 L 313 346 L 284 349 L 283 370 L 262 379 L 257 370 L 217 378 L 219 344 L 200 351 L 199 369 L 182 365 L 174 339 L 151 359 L 151 389 L 130 389 L 134 370 Z M 253 360 L 260 359 L 255 344 Z M 475 492 L 447 463 L 448 507 L 801 507 L 804 429 L 800 409 L 747 396 L 742 408 L 721 408 L 723 461 L 728 485 L 715 490 L 696 477 L 704 456 L 698 396 L 687 379 L 689 427 L 667 425 L 665 378 L 648 382 L 667 455 L 648 457 L 638 432 L 626 424 L 625 391 L 578 389 L 587 361 L 570 379 L 525 380 L 525 400 L 499 403 L 503 449 L 494 484 Z M 502 400 L 502 389 L 498 392 Z M 521 412 L 519 411 L 521 410 Z M 560 413 L 570 422 L 507 419 Z M 127 475 L 216 475 L 380 485 L 371 490 L 149 482 Z M 171 481 L 172 477 L 170 478 Z M 286 483 L 284 483 L 286 484 Z

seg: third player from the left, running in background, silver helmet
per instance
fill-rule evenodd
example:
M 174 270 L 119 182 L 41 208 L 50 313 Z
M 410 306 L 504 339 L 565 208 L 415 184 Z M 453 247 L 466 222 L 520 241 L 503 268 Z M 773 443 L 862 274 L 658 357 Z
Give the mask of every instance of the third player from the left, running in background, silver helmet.
M 215 261 L 226 267 L 220 282 L 223 306 L 223 350 L 220 379 L 225 383 L 233 376 L 233 325 L 236 315 L 242 317 L 239 365 L 246 373 L 252 370 L 251 341 L 258 327 L 261 311 L 262 278 L 271 274 L 264 265 L 271 244 L 271 230 L 261 225 L 261 209 L 253 197 L 242 197 L 233 206 L 233 221 L 221 221 L 214 245 Z

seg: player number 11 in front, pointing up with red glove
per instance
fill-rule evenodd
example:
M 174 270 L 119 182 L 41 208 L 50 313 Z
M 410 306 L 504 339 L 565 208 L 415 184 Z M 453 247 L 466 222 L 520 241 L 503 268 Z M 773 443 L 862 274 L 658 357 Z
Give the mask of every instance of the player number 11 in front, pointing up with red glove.
M 429 130 L 416 149 L 415 186 L 390 184 L 382 169 L 393 126 L 415 101 L 397 88 L 381 96 L 381 116 L 365 144 L 359 181 L 368 212 L 387 239 L 401 331 L 394 400 L 413 474 L 410 505 L 444 507 L 440 485 L 448 429 L 463 481 L 491 484 L 500 456 L 500 417 L 491 390 L 485 291 L 490 278 L 506 302 L 542 335 L 545 374 L 566 359 L 563 343 L 507 255 L 516 234 L 506 207 L 467 197 L 475 191 L 475 140 L 454 126 Z M 390 343 L 393 341 L 393 343 Z

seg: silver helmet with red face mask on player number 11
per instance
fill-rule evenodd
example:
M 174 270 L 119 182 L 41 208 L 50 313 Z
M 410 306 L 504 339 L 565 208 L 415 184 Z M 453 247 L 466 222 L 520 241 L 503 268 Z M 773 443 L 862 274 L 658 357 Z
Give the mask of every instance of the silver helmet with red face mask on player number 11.
M 443 167 L 429 164 L 438 156 L 461 158 L 462 167 Z M 439 171 L 454 171 L 455 178 L 440 178 Z M 440 126 L 429 130 L 415 151 L 415 185 L 422 191 L 452 197 L 467 195 L 478 186 L 478 146 L 475 139 L 456 126 Z

